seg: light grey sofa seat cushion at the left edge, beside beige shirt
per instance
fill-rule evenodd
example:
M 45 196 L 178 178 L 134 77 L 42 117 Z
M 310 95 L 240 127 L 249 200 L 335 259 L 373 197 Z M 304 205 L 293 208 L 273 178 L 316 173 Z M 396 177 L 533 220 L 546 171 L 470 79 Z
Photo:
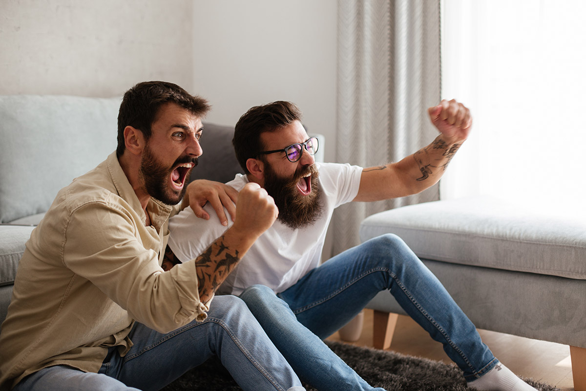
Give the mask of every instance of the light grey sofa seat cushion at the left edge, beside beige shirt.
M 0 225 L 0 286 L 14 283 L 18 261 L 33 226 Z

